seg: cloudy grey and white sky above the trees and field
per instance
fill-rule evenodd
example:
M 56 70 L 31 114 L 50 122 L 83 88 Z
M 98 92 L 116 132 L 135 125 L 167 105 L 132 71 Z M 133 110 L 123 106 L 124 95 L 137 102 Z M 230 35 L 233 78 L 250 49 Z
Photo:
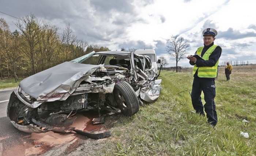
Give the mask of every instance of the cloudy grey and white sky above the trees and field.
M 78 39 L 89 44 L 111 50 L 155 49 L 169 66 L 176 63 L 167 55 L 166 39 L 184 37 L 193 54 L 203 46 L 203 29 L 211 27 L 218 31 L 214 43 L 222 47 L 220 61 L 256 63 L 255 4 L 255 0 L 1 0 L 0 18 L 14 31 L 14 17 L 32 13 L 60 32 L 70 24 Z M 190 66 L 188 59 L 178 65 Z

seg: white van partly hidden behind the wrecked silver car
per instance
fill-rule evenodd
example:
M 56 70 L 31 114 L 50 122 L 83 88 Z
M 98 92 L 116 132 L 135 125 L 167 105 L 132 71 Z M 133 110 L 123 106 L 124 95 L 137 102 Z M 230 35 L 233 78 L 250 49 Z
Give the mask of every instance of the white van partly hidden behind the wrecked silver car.
M 152 66 L 155 67 L 155 73 L 157 73 L 157 63 L 160 63 L 160 60 L 157 61 L 157 56 L 155 55 L 154 49 L 138 49 L 134 53 L 149 56 Z

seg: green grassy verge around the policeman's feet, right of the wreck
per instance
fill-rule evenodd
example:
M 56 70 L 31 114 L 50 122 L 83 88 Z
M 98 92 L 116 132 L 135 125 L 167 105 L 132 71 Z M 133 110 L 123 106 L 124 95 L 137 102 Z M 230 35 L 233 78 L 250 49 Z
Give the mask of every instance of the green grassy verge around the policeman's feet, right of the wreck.
M 233 73 L 226 81 L 219 73 L 215 81 L 219 122 L 212 128 L 206 117 L 192 112 L 190 95 L 182 92 L 192 89 L 191 73 L 161 75 L 158 100 L 144 104 L 130 118 L 121 117 L 111 129 L 112 138 L 102 140 L 94 155 L 256 155 L 255 76 Z M 248 132 L 249 138 L 240 136 L 240 131 Z

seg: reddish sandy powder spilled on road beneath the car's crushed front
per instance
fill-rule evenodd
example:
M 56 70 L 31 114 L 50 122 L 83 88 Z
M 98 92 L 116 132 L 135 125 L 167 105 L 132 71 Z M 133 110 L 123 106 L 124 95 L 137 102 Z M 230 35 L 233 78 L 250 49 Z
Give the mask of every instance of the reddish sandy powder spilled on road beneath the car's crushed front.
M 80 129 L 82 131 L 87 131 L 91 133 L 102 133 L 109 131 L 115 121 L 118 120 L 120 115 L 103 112 L 101 116 L 104 117 L 104 124 L 93 125 L 93 118 L 97 118 L 97 111 L 86 111 L 77 113 L 76 120 L 70 127 L 76 127 L 76 129 Z M 2 156 L 12 156 L 17 155 L 19 153 L 22 155 L 67 155 L 71 152 L 79 151 L 85 152 L 86 149 L 84 143 L 89 146 L 97 146 L 99 140 L 89 139 L 85 136 L 79 135 L 78 133 L 72 131 L 69 133 L 57 133 L 57 132 L 46 132 L 46 133 L 31 133 L 30 135 L 26 135 L 20 138 L 23 141 L 23 144 L 15 144 L 9 147 L 4 147 Z M 39 147 L 35 147 L 40 145 Z M 81 149 L 80 149 L 81 148 Z

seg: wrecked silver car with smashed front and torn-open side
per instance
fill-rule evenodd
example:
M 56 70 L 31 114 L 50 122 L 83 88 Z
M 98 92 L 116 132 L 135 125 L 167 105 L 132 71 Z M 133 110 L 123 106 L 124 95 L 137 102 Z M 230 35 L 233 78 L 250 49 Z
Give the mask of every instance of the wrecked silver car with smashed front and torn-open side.
M 91 52 L 22 80 L 11 94 L 7 116 L 23 132 L 75 131 L 94 139 L 108 137 L 110 132 L 95 135 L 69 127 L 73 115 L 91 109 L 99 116 L 103 110 L 136 114 L 143 101 L 151 103 L 161 92 L 161 79 L 153 69 L 148 56 Z

